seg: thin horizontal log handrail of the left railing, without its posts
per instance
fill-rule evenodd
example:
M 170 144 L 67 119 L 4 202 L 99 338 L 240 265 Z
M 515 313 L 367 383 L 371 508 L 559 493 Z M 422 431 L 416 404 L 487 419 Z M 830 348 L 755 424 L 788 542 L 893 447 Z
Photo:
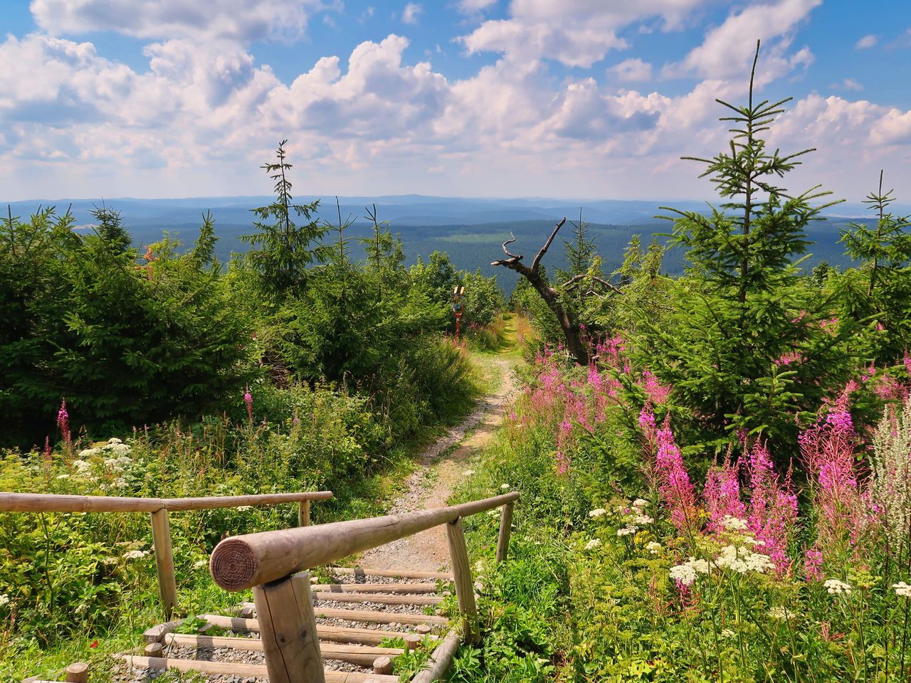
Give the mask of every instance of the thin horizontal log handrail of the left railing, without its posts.
M 292 494 L 213 495 L 201 498 L 129 498 L 113 495 L 0 493 L 0 512 L 118 512 L 212 510 L 241 505 L 281 505 L 326 500 L 332 491 Z

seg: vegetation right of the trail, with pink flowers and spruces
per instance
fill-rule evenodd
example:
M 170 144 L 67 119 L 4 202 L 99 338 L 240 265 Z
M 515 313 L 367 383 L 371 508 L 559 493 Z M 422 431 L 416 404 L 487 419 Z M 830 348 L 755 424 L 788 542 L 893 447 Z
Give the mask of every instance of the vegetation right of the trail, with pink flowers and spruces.
M 513 293 L 527 386 L 457 497 L 522 500 L 502 565 L 468 523 L 488 635 L 453 680 L 911 678 L 908 220 L 880 178 L 855 265 L 800 270 L 830 199 L 779 185 L 807 153 L 763 140 L 785 104 L 722 103 L 731 143 L 697 159 L 722 203 L 669 209 L 683 276 L 638 241 L 604 273 L 575 224 L 548 282 L 588 362 Z

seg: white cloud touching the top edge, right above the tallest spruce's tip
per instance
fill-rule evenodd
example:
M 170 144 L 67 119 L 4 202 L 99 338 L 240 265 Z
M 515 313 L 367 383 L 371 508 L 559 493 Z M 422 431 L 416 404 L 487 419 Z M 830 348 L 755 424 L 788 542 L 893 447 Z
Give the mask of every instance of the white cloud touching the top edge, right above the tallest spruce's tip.
M 782 76 L 795 66 L 807 66 L 813 61 L 808 48 L 787 54 L 792 42 L 790 33 L 822 2 L 777 0 L 770 4 L 748 5 L 739 13 L 729 15 L 722 25 L 708 31 L 701 46 L 692 49 L 681 62 L 665 66 L 664 76 L 742 77 L 744 73 L 749 73 L 753 46 L 757 40 L 765 44 L 760 53 L 762 66 L 757 70 L 761 82 Z M 774 40 L 779 36 L 783 38 Z M 768 44 L 770 41 L 771 46 Z

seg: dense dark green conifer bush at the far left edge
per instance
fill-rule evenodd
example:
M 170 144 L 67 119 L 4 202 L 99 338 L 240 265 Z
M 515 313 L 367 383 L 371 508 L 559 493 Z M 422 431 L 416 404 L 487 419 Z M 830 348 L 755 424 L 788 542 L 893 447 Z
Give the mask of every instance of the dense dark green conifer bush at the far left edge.
M 61 399 L 74 422 L 122 431 L 196 415 L 251 377 L 245 319 L 211 260 L 211 221 L 194 250 L 163 240 L 138 263 L 117 212 L 93 233 L 53 209 L 0 225 L 3 443 L 54 433 Z M 154 254 L 154 255 L 153 255 Z

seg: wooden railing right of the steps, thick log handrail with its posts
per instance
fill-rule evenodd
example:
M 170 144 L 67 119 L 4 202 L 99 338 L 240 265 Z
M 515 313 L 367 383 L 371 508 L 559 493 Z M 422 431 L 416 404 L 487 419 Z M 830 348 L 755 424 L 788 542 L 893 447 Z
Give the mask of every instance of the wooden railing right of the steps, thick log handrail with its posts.
M 233 536 L 215 546 L 210 572 L 225 590 L 253 589 L 270 683 L 325 683 L 307 569 L 445 524 L 462 637 L 476 643 L 475 586 L 462 517 L 503 508 L 496 547 L 496 559 L 502 561 L 517 500 L 511 493 L 404 515 Z M 435 680 L 437 673 L 432 665 L 415 681 Z

